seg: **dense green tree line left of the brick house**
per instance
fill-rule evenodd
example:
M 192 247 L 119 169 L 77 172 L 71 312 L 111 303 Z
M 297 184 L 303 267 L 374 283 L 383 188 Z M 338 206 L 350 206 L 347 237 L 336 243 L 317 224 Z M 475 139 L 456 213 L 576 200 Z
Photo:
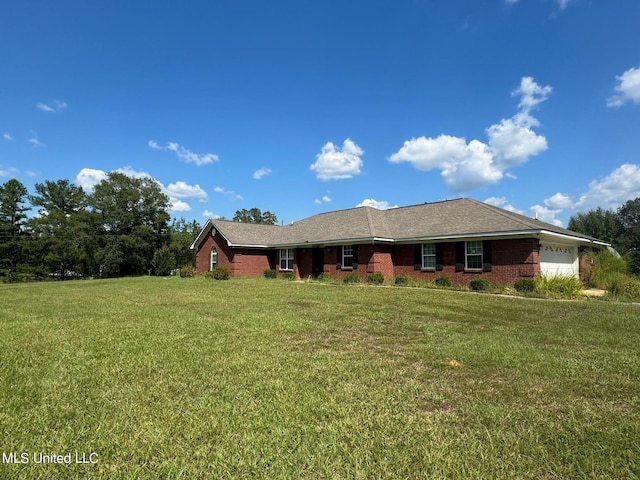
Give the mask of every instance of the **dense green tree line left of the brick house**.
M 0 185 L 0 277 L 167 274 L 193 265 L 189 247 L 200 225 L 170 223 L 168 210 L 169 197 L 151 178 L 112 172 L 92 193 L 47 180 L 33 195 L 11 179 Z

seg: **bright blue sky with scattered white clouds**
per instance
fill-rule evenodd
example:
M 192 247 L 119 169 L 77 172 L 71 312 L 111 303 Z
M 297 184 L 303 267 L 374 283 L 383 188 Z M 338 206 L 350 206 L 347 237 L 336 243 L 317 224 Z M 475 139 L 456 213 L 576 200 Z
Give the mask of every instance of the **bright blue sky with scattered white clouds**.
M 13 2 L 0 183 L 155 178 L 172 215 L 640 196 L 637 0 Z

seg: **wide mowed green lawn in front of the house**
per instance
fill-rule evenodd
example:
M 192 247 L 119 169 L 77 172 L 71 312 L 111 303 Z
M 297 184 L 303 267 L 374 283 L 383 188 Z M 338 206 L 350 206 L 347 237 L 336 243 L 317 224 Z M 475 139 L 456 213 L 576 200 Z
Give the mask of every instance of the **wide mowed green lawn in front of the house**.
M 266 279 L 0 286 L 0 478 L 637 478 L 640 306 Z M 94 453 L 95 464 L 33 454 Z

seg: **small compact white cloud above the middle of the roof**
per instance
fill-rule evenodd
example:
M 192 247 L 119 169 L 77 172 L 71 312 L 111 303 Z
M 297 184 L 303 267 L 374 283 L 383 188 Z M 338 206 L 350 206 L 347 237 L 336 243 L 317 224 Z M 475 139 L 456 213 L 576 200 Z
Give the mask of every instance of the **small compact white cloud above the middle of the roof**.
M 363 154 L 364 151 L 349 138 L 344 141 L 342 148 L 327 142 L 310 169 L 316 172 L 316 177 L 320 180 L 352 178 L 360 174 L 360 156 Z

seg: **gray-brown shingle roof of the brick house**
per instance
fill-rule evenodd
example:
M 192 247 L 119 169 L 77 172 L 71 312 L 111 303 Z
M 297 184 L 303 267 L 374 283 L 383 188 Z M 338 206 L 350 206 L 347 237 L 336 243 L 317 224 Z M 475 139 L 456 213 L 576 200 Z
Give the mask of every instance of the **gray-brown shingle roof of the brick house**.
M 535 234 L 541 231 L 586 242 L 597 241 L 586 235 L 468 198 L 389 210 L 357 207 L 320 213 L 284 226 L 226 220 L 211 220 L 211 224 L 231 245 L 236 246 L 284 247 L 385 240 L 409 242 L 465 236 Z M 197 243 L 198 239 L 194 245 Z

